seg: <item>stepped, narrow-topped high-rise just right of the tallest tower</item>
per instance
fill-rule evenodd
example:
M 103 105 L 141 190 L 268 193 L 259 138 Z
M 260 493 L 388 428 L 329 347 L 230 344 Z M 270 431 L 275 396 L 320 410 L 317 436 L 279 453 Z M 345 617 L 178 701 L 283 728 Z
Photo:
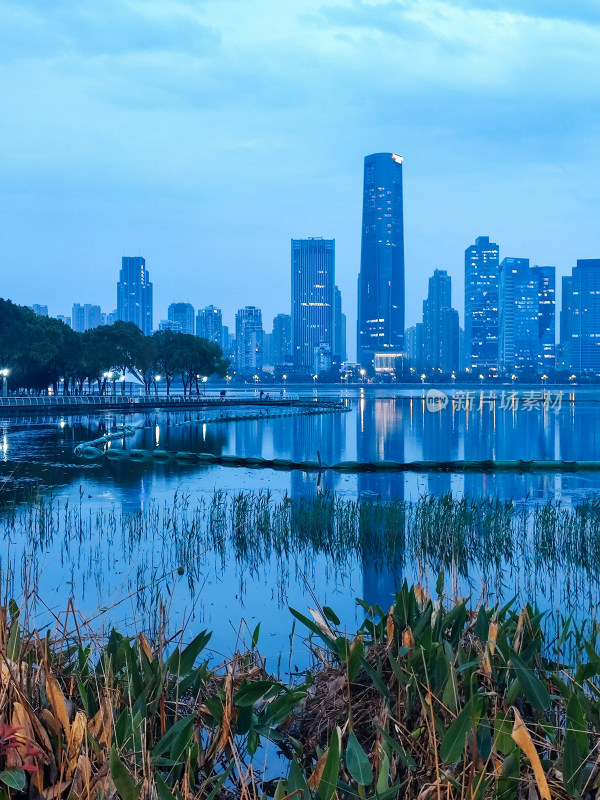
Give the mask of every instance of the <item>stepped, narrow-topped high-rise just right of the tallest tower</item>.
M 452 308 L 452 279 L 445 269 L 436 269 L 423 302 L 425 366 L 444 373 L 458 369 L 458 330 L 458 311 Z

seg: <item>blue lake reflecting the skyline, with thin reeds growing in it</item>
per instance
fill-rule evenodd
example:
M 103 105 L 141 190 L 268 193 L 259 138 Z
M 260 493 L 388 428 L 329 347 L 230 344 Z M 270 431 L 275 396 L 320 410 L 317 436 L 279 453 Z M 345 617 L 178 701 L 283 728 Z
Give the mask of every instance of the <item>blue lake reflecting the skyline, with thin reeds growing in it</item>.
M 287 604 L 303 612 L 317 601 L 327 604 L 352 628 L 356 597 L 387 607 L 398 581 L 435 583 L 439 559 L 420 552 L 413 536 L 420 511 L 418 519 L 408 513 L 397 523 L 406 542 L 393 556 L 378 549 L 379 528 L 365 527 L 370 506 L 344 523 L 343 536 L 323 534 L 323 541 L 313 535 L 314 520 L 305 538 L 296 521 L 285 537 L 278 528 L 277 536 L 265 533 L 254 541 L 253 525 L 265 514 L 281 519 L 283 502 L 335 496 L 347 509 L 339 513 L 351 515 L 352 503 L 362 498 L 391 503 L 396 514 L 420 499 L 451 494 L 456 501 L 513 501 L 510 524 L 516 527 L 513 555 L 505 551 L 498 561 L 472 547 L 466 560 L 444 562 L 448 591 L 471 593 L 474 600 L 482 593 L 491 600 L 534 594 L 549 611 L 595 608 L 595 570 L 576 553 L 565 566 L 554 552 L 560 542 L 536 556 L 541 534 L 535 525 L 541 523 L 534 519 L 536 507 L 548 500 L 567 508 L 590 502 L 600 485 L 594 472 L 319 474 L 74 455 L 78 444 L 132 424 L 135 434 L 111 448 L 320 457 L 326 464 L 600 458 L 596 392 L 511 392 L 496 389 L 492 398 L 487 387 L 468 395 L 449 388 L 444 394 L 454 395 L 454 403 L 444 405 L 442 398 L 434 407 L 421 387 L 310 388 L 303 397 L 340 399 L 350 410 L 278 418 L 274 409 L 244 421 L 219 421 L 218 410 L 204 409 L 0 418 L 2 496 L 17 502 L 16 511 L 0 514 L 3 584 L 8 581 L 17 598 L 24 592 L 40 598 L 34 605 L 39 624 L 49 623 L 70 596 L 84 615 L 96 617 L 94 624 L 115 624 L 123 632 L 156 625 L 163 604 L 173 628 L 187 622 L 192 632 L 215 630 L 213 645 L 223 653 L 235 646 L 242 619 L 246 638 L 261 622 L 262 649 L 274 658 L 289 650 Z M 235 501 L 240 491 L 250 493 L 247 507 Z M 515 516 L 523 513 L 523 519 Z M 486 514 L 485 525 L 498 516 Z M 217 538 L 216 529 L 222 531 Z

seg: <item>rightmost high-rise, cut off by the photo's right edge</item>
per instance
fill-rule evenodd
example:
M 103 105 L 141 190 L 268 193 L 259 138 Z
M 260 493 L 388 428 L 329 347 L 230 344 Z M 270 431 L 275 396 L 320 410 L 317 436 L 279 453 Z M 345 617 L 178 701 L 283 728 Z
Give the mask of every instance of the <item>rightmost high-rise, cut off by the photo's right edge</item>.
M 578 259 L 563 278 L 560 329 L 565 365 L 600 374 L 600 258 Z

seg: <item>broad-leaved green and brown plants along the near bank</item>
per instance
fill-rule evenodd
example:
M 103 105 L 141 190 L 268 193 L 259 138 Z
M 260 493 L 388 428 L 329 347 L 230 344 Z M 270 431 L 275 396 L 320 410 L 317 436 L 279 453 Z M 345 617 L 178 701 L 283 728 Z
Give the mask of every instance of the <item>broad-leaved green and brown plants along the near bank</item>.
M 357 602 L 352 635 L 328 607 L 291 610 L 313 666 L 284 679 L 259 627 L 219 664 L 205 631 L 103 640 L 72 604 L 38 631 L 9 603 L 2 797 L 596 795 L 595 622 L 548 638 L 535 607 L 450 602 L 441 577 L 433 598 L 405 584 L 389 609 Z

